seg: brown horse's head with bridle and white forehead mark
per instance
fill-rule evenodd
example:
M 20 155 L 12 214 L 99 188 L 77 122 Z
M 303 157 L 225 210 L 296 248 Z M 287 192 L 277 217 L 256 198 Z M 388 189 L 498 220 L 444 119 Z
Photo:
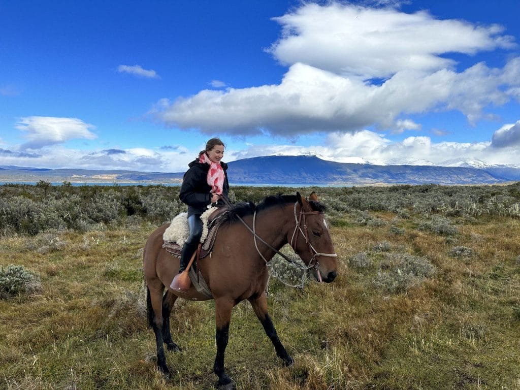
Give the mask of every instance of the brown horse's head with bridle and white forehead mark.
M 316 192 L 310 194 L 309 200 L 296 192 L 296 198 L 295 226 L 288 241 L 303 262 L 313 266 L 317 279 L 330 283 L 337 275 L 337 261 L 323 206 L 318 203 Z

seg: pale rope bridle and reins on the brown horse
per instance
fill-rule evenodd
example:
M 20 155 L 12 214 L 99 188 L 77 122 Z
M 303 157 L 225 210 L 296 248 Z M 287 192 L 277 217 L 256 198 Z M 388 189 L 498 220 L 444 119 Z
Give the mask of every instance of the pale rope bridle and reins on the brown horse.
M 224 197 L 224 196 L 221 196 L 221 199 L 224 201 L 224 203 L 226 204 L 226 206 L 228 207 L 232 207 L 232 204 L 231 202 L 229 201 L 229 199 L 227 197 Z M 323 214 L 322 212 L 320 211 L 308 211 L 308 212 L 304 212 L 303 211 L 303 207 L 301 207 L 300 209 L 300 217 L 298 218 L 297 216 L 297 212 L 296 212 L 296 205 L 298 204 L 298 202 L 294 203 L 294 220 L 295 220 L 295 223 L 296 223 L 296 226 L 294 227 L 294 232 L 293 232 L 293 235 L 291 237 L 291 242 L 289 243 L 289 245 L 291 245 L 291 248 L 296 252 L 296 250 L 294 249 L 294 246 L 293 246 L 293 241 L 294 241 L 294 245 L 296 245 L 296 242 L 298 241 L 298 235 L 299 233 L 301 232 L 302 233 L 302 236 L 305 238 L 305 243 L 308 245 L 309 247 L 309 252 L 314 252 L 314 255 L 313 257 L 310 259 L 310 262 L 309 262 L 309 265 L 308 266 L 302 266 L 301 264 L 298 264 L 296 263 L 292 258 L 284 255 L 282 252 L 280 252 L 279 250 L 275 249 L 272 245 L 268 244 L 264 239 L 262 239 L 262 237 L 259 237 L 257 234 L 256 234 L 256 231 L 255 231 L 255 221 L 256 221 L 256 210 L 253 214 L 253 228 L 250 228 L 248 224 L 245 223 L 245 221 L 237 215 L 237 218 L 240 220 L 240 222 L 252 233 L 253 235 L 253 240 L 254 240 L 254 243 L 255 243 L 255 248 L 256 248 L 256 251 L 258 252 L 258 254 L 260 255 L 260 257 L 262 257 L 263 261 L 265 262 L 265 265 L 267 267 L 271 267 L 271 265 L 269 264 L 268 260 L 264 257 L 264 255 L 260 252 L 260 250 L 258 249 L 258 244 L 256 242 L 256 240 L 258 239 L 259 241 L 261 241 L 264 245 L 267 246 L 267 248 L 269 248 L 270 250 L 274 251 L 275 253 L 277 253 L 278 255 L 280 255 L 282 258 L 284 258 L 287 262 L 293 264 L 294 266 L 296 266 L 297 268 L 303 270 L 303 271 L 308 271 L 309 269 L 314 269 L 318 275 L 318 281 L 319 282 L 322 282 L 322 279 L 321 279 L 321 272 L 319 270 L 319 262 L 317 260 L 317 257 L 318 256 L 329 256 L 329 257 L 335 257 L 337 256 L 336 253 L 320 253 L 318 252 L 313 245 L 311 245 L 309 239 L 308 239 L 308 232 L 307 232 L 307 224 L 306 224 L 306 220 L 305 220 L 305 216 L 306 215 L 312 215 L 312 214 Z M 303 227 L 305 229 L 305 231 L 302 229 L 301 227 L 301 223 L 302 223 L 302 217 L 303 217 Z M 272 267 L 271 267 L 272 268 Z M 272 271 L 272 269 L 271 269 Z M 276 273 L 276 272 L 275 272 Z M 282 283 L 284 284 L 287 284 L 285 282 L 282 281 Z M 289 284 L 287 284 L 289 285 Z M 291 286 L 291 287 L 299 287 L 299 286 Z M 303 286 L 302 286 L 303 287 Z

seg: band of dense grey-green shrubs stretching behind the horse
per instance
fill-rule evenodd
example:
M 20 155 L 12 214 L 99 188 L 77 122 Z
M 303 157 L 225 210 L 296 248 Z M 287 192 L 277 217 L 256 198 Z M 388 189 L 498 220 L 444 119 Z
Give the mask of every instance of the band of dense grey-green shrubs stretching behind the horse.
M 258 203 L 267 195 L 300 191 L 305 196 L 315 190 L 327 207 L 332 226 L 344 226 L 345 215 L 362 226 L 380 227 L 386 220 L 373 212 L 391 212 L 401 219 L 434 215 L 421 222 L 420 229 L 440 235 L 457 233 L 451 217 L 471 221 L 479 215 L 520 217 L 520 182 L 508 186 L 391 186 L 343 188 L 232 187 L 234 202 Z M 162 224 L 186 211 L 178 198 L 177 186 L 0 186 L 0 235 L 36 235 L 49 229 L 99 230 L 110 225 L 133 223 Z M 391 228 L 392 229 L 392 228 Z M 392 229 L 392 234 L 402 231 Z

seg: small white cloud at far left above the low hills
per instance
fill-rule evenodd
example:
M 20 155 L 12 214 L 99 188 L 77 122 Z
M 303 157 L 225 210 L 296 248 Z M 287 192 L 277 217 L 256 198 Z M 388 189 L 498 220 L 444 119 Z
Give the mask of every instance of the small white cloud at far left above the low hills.
M 21 118 L 15 126 L 23 132 L 28 140 L 20 149 L 41 149 L 45 146 L 61 144 L 70 139 L 95 139 L 97 135 L 90 132 L 95 126 L 77 118 L 56 118 L 54 116 L 27 116 Z

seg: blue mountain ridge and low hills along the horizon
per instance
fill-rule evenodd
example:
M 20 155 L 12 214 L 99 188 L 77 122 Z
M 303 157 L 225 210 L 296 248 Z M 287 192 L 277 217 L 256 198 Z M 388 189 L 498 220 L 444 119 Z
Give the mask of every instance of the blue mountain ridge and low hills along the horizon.
M 271 155 L 231 161 L 229 181 L 235 185 L 394 185 L 499 184 L 520 180 L 514 166 L 376 165 L 323 160 L 316 155 Z M 0 182 L 180 184 L 184 172 L 86 170 L 0 165 Z

